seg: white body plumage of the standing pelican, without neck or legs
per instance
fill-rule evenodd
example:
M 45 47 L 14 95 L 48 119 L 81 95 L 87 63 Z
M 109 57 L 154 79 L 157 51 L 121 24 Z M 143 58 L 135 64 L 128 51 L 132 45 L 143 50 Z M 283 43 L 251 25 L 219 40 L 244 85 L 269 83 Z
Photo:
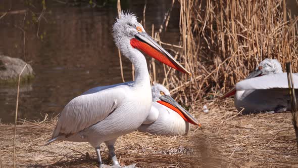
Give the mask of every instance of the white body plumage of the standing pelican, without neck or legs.
M 61 125 L 59 127 L 60 124 L 58 124 L 57 128 L 60 128 L 60 130 L 56 129 L 54 136 L 58 136 L 61 129 L 63 129 L 63 132 L 70 132 L 71 130 L 67 130 L 69 127 L 66 127 L 66 125 L 73 125 L 72 129 L 76 127 L 78 132 L 70 136 L 61 136 L 60 140 L 85 141 L 93 147 L 97 147 L 102 142 L 111 141 L 121 135 L 135 131 L 148 115 L 151 109 L 152 97 L 150 85 L 144 83 L 143 86 L 133 86 L 133 84 L 134 82 L 130 82 L 127 85 L 111 86 L 111 88 L 101 91 L 98 91 L 101 87 L 97 87 L 76 97 L 66 105 L 60 117 L 76 115 L 72 111 L 85 111 L 86 109 L 93 111 L 93 113 L 89 113 L 88 117 L 82 114 L 75 116 L 81 118 L 81 121 L 84 120 L 83 124 L 78 124 L 76 120 L 70 119 L 63 122 L 65 126 Z M 109 99 L 109 97 L 112 99 Z M 80 105 L 73 105 L 74 103 Z M 77 109 L 73 109 L 73 107 Z M 104 113 L 101 111 L 112 112 Z M 102 116 L 98 116 L 98 113 Z M 96 119 L 96 117 L 104 119 Z M 92 124 L 87 127 L 88 123 Z

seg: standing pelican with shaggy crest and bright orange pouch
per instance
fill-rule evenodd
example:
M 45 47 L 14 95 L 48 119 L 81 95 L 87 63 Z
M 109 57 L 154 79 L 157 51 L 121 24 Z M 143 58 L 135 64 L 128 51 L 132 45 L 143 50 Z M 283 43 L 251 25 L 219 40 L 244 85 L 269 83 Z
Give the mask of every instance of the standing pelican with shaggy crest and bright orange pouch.
M 100 167 L 104 166 L 101 143 L 108 146 L 112 164 L 119 165 L 114 149 L 117 138 L 137 130 L 150 112 L 150 76 L 139 50 L 191 75 L 145 32 L 133 14 L 122 13 L 111 29 L 116 46 L 135 67 L 135 81 L 93 88 L 72 99 L 60 113 L 52 139 L 47 143 L 89 142 L 95 148 Z

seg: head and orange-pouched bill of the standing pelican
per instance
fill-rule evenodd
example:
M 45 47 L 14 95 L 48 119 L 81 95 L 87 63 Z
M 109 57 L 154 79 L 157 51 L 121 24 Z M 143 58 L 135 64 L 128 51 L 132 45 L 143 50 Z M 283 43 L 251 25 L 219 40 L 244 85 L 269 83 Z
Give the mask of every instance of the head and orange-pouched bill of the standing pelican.
M 191 75 L 146 33 L 143 26 L 137 22 L 134 14 L 121 13 L 113 25 L 113 36 L 116 46 L 126 57 L 129 57 L 130 49 L 138 49 L 174 69 Z

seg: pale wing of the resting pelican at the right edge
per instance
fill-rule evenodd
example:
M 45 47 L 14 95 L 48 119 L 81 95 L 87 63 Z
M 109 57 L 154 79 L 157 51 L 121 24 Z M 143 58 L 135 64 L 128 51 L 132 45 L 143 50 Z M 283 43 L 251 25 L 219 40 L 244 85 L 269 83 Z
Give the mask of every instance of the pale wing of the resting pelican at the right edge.
M 298 73 L 293 73 L 293 82 L 294 88 L 298 89 Z M 288 88 L 288 80 L 286 73 L 263 75 L 259 77 L 242 80 L 236 84 L 237 91 L 273 88 Z

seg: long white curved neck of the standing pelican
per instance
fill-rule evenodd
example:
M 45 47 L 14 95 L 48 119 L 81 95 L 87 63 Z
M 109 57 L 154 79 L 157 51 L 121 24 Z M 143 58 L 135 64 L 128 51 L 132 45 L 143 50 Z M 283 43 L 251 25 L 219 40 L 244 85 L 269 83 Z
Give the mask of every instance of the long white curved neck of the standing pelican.
M 147 62 L 144 55 L 130 46 L 120 48 L 121 52 L 132 62 L 135 69 L 134 85 L 148 85 L 150 86 L 150 77 L 147 69 Z

